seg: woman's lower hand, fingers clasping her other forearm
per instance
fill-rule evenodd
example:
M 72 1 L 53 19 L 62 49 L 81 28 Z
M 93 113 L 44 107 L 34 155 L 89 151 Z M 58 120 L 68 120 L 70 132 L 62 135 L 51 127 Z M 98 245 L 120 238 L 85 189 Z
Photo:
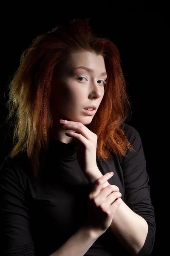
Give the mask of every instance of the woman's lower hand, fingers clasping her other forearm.
M 122 194 L 117 186 L 108 185 L 102 189 L 103 184 L 111 177 L 110 173 L 106 173 L 96 180 L 91 193 L 88 195 L 88 216 L 85 227 L 99 236 L 110 227 L 113 215 L 122 203 Z

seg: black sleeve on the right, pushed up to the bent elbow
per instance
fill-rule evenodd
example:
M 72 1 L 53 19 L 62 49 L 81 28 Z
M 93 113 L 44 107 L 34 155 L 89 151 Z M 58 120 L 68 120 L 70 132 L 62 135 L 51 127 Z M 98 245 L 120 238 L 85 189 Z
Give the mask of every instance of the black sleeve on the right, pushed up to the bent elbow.
M 156 222 L 153 205 L 150 198 L 149 176 L 146 171 L 146 161 L 141 137 L 130 125 L 122 127 L 127 139 L 136 151 L 127 152 L 122 158 L 122 170 L 125 182 L 125 203 L 136 214 L 147 221 L 148 233 L 144 246 L 136 256 L 148 256 L 153 250 L 156 234 Z

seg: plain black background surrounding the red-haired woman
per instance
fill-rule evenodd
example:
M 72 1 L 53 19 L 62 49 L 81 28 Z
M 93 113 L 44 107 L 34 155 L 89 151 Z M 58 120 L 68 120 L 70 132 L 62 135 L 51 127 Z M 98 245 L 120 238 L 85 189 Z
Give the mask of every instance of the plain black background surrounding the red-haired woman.
M 136 3 L 137 2 L 137 3 Z M 168 202 L 165 181 L 168 179 L 165 146 L 168 116 L 164 115 L 163 105 L 169 86 L 165 81 L 167 73 L 167 35 L 169 13 L 157 1 L 122 3 L 101 2 L 95 7 L 90 3 L 75 6 L 65 3 L 48 8 L 33 5 L 6 7 L 6 25 L 1 27 L 2 51 L 0 91 L 0 164 L 12 145 L 12 131 L 5 124 L 8 99 L 7 85 L 10 76 L 20 64 L 20 55 L 32 40 L 59 23 L 72 18 L 91 18 L 96 32 L 108 37 L 119 49 L 122 70 L 127 84 L 127 92 L 133 106 L 132 118 L 127 122 L 139 132 L 150 177 L 150 193 L 156 215 L 156 239 L 151 255 L 167 253 L 165 231 L 167 231 Z M 14 8 L 14 9 L 13 9 Z M 43 9 L 43 10 L 42 10 Z M 164 202 L 165 201 L 165 202 Z

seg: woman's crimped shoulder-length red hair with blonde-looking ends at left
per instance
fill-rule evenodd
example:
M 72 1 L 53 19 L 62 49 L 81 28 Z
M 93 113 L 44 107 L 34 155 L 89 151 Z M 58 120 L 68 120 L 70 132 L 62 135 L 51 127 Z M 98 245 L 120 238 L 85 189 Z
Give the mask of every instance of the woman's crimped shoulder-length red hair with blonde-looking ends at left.
M 127 149 L 134 151 L 121 128 L 131 106 L 119 51 L 108 38 L 99 38 L 91 32 L 89 19 L 72 20 L 35 38 L 22 53 L 20 65 L 9 83 L 7 120 L 15 115 L 14 147 L 10 157 L 26 150 L 36 177 L 40 170 L 40 155 L 42 152 L 46 155 L 48 151 L 53 124 L 50 109 L 53 71 L 63 57 L 77 50 L 102 55 L 108 73 L 102 102 L 87 125 L 98 137 L 97 158 L 110 158 L 110 151 L 123 156 Z

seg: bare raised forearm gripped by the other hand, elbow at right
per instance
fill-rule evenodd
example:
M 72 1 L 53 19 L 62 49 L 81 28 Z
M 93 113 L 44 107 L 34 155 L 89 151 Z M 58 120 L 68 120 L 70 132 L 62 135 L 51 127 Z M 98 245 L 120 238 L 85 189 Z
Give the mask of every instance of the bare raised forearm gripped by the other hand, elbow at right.
M 90 180 L 92 183 L 102 177 L 99 169 L 93 173 L 95 175 Z M 108 185 L 109 182 L 107 181 L 102 189 Z M 110 228 L 122 246 L 133 255 L 136 255 L 142 249 L 148 232 L 147 222 L 133 212 L 123 201 L 114 213 Z

